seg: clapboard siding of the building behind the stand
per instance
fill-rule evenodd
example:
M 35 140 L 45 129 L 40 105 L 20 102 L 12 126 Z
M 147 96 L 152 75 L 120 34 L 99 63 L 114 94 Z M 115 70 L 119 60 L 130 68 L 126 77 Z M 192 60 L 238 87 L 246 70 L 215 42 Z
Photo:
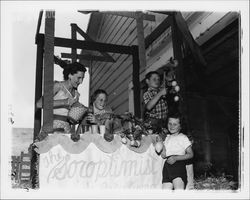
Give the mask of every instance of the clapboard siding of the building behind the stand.
M 144 21 L 144 36 L 150 34 L 167 16 L 159 15 L 155 22 Z M 104 18 L 103 33 L 98 41 L 119 45 L 136 45 L 136 21 L 132 18 Z M 102 88 L 109 94 L 109 105 L 114 111 L 128 111 L 128 85 L 132 80 L 132 56 L 110 53 L 116 63 L 93 62 L 90 93 Z M 115 95 L 113 95 L 115 94 Z

